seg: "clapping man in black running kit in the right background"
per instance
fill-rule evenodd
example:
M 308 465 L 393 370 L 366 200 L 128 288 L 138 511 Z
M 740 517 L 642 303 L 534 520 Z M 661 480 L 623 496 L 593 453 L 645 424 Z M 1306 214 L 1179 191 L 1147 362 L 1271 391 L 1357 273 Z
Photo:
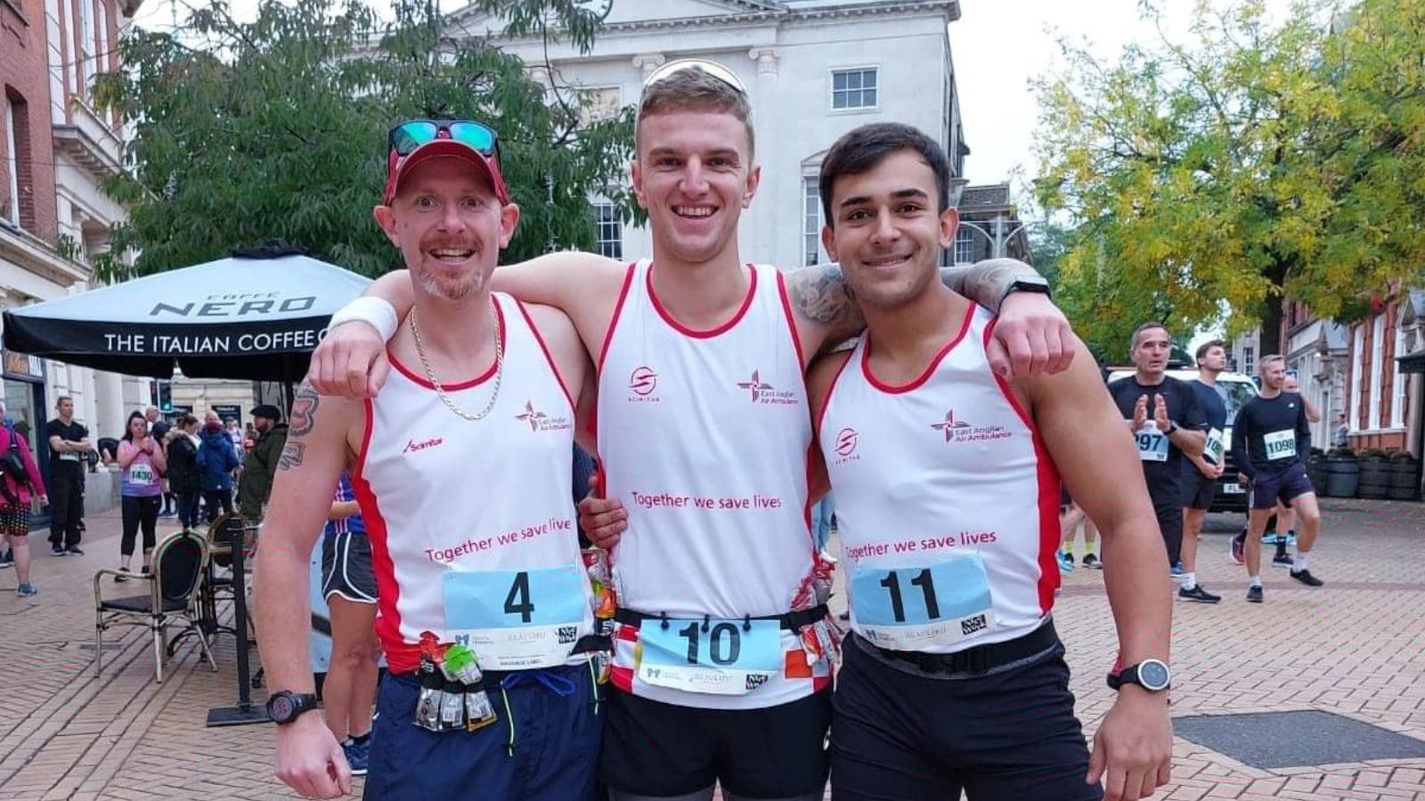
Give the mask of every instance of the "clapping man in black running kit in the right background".
M 1156 322 L 1140 325 L 1129 349 L 1137 372 L 1110 383 L 1109 393 L 1137 440 L 1168 564 L 1173 576 L 1181 576 L 1183 453 L 1203 453 L 1207 420 L 1193 389 L 1164 375 L 1171 351 L 1166 328 Z

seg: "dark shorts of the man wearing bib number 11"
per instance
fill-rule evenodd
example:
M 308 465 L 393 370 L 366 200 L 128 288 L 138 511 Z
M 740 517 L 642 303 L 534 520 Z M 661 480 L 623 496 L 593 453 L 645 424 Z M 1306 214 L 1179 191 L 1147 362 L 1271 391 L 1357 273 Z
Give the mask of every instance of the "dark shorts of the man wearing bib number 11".
M 1063 646 L 986 676 L 931 676 L 846 639 L 831 718 L 834 801 L 1099 801 Z

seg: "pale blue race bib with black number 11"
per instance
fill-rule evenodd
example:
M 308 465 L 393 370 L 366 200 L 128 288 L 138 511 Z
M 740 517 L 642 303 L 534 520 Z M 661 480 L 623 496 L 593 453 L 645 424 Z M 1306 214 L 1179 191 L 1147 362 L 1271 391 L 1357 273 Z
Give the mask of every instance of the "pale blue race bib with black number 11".
M 995 623 L 989 576 L 979 553 L 929 567 L 856 566 L 852 627 L 872 644 L 901 651 L 953 646 Z

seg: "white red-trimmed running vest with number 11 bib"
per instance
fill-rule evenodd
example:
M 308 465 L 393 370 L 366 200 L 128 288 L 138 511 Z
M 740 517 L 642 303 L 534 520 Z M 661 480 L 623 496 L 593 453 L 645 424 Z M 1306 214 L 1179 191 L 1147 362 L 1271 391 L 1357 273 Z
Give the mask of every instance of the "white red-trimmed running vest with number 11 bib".
M 892 650 L 948 654 L 1037 629 L 1059 569 L 1059 473 L 985 355 L 972 305 L 926 372 L 886 386 L 868 341 L 818 423 L 846 570 L 851 626 Z

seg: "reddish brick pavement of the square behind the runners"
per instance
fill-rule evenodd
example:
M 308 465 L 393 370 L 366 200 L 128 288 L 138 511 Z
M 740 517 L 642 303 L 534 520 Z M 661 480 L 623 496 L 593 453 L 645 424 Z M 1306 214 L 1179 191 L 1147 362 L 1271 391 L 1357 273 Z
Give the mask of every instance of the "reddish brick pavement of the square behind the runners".
M 1425 506 L 1325 499 L 1324 507 L 1312 572 L 1327 586 L 1271 572 L 1261 606 L 1243 601 L 1244 573 L 1227 563 L 1231 520 L 1210 519 L 1198 574 L 1226 599 L 1176 607 L 1174 715 L 1325 710 L 1425 740 Z M 37 552 L 43 543 L 31 536 Z M 117 516 L 91 517 L 84 544 L 83 557 L 37 557 L 36 599 L 19 599 L 14 573 L 0 572 L 0 664 L 10 677 L 0 693 L 0 801 L 294 798 L 271 777 L 269 725 L 204 725 L 208 707 L 237 697 L 231 637 L 215 647 L 219 673 L 188 644 L 160 686 L 145 631 L 111 633 L 95 678 L 90 577 L 115 563 Z M 1113 701 L 1102 678 L 1116 643 L 1102 573 L 1066 579 L 1056 621 L 1092 733 Z M 1174 757 L 1173 782 L 1156 798 L 1425 801 L 1425 760 L 1264 771 L 1181 738 Z

